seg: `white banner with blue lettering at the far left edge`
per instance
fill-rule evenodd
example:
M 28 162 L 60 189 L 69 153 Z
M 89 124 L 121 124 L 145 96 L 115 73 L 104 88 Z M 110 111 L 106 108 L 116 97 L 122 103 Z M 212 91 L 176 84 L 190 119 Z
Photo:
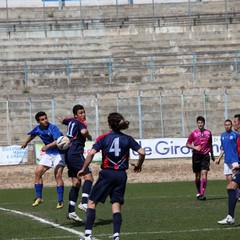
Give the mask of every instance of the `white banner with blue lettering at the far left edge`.
M 0 165 L 17 165 L 27 163 L 28 149 L 18 145 L 0 147 Z

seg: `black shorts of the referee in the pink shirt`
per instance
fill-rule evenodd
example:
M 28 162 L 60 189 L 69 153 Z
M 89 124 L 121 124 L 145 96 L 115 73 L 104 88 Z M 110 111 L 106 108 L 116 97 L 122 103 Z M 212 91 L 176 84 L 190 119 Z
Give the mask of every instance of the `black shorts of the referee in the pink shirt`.
M 210 168 L 210 156 L 209 154 L 195 154 L 192 155 L 192 169 L 194 173 L 201 172 L 201 170 L 209 171 Z

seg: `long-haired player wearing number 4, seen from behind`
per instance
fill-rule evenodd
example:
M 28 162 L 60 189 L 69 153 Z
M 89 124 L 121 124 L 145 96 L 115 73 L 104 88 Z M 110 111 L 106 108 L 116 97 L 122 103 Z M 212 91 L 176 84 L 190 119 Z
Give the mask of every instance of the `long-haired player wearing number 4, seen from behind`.
M 88 171 L 88 166 L 94 155 L 98 151 L 102 151 L 102 170 L 88 200 L 85 220 L 85 240 L 92 239 L 92 228 L 95 221 L 97 204 L 99 202 L 104 203 L 108 196 L 112 204 L 113 239 L 120 239 L 122 224 L 121 206 L 124 203 L 129 150 L 133 149 L 139 153 L 138 163 L 134 164 L 134 172 L 141 172 L 145 159 L 143 148 L 131 136 L 121 132 L 121 130 L 127 129 L 129 126 L 129 122 L 125 121 L 121 114 L 110 113 L 108 115 L 108 124 L 112 131 L 97 138 L 86 158 L 83 168 L 78 172 L 78 177 L 81 179 Z

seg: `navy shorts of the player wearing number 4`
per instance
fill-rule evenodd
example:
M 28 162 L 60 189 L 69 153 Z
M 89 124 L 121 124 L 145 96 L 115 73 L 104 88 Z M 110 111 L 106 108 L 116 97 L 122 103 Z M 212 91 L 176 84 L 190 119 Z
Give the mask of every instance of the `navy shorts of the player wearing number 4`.
M 95 203 L 105 203 L 107 197 L 110 197 L 110 203 L 124 204 L 124 194 L 127 183 L 126 171 L 102 169 L 89 199 Z

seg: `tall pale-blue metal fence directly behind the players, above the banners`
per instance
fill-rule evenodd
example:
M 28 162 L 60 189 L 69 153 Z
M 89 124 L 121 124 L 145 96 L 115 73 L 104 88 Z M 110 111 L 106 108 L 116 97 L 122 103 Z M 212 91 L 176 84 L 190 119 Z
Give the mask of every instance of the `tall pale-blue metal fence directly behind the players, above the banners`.
M 59 126 L 63 133 L 66 128 L 56 116 L 72 116 L 72 107 L 83 104 L 87 113 L 87 123 L 93 138 L 108 131 L 107 115 L 118 111 L 130 121 L 126 131 L 138 139 L 161 137 L 186 137 L 196 128 L 196 117 L 206 118 L 206 127 L 213 135 L 223 130 L 226 118 L 240 112 L 240 94 L 172 95 L 146 97 L 116 97 L 89 99 L 28 99 L 6 100 L 0 102 L 1 145 L 21 144 L 26 133 L 35 125 L 34 116 L 45 111 L 49 120 Z M 38 140 L 39 141 L 39 140 Z

